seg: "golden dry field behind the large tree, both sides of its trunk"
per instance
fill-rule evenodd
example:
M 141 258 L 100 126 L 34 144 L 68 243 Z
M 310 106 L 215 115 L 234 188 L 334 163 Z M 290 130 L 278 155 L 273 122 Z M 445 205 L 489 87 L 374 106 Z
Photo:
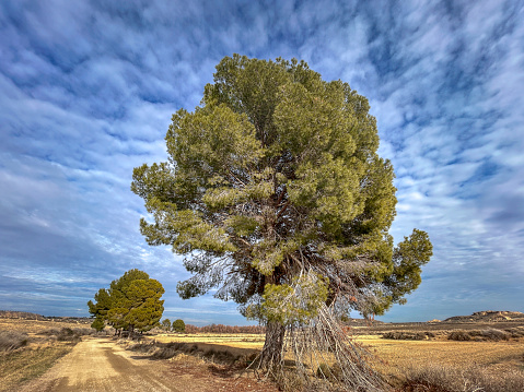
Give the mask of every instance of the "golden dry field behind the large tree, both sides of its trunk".
M 524 323 L 380 324 L 352 332 L 374 354 L 376 369 L 394 391 L 524 391 Z M 256 334 L 162 334 L 154 340 L 172 342 L 171 349 L 184 344 L 178 347 L 186 354 L 193 347 L 202 358 L 211 347 L 230 351 L 236 360 L 238 349 L 253 353 L 264 345 L 264 335 Z M 333 364 L 318 368 L 327 376 L 336 372 Z

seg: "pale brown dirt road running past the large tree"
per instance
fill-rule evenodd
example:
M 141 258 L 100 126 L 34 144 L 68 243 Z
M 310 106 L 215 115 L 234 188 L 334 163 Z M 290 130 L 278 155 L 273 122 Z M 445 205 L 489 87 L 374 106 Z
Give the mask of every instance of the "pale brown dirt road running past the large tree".
M 24 385 L 33 391 L 266 391 L 253 379 L 235 379 L 209 365 L 152 360 L 125 351 L 110 340 L 88 338 L 74 346 L 43 377 Z M 269 389 L 267 389 L 269 387 Z

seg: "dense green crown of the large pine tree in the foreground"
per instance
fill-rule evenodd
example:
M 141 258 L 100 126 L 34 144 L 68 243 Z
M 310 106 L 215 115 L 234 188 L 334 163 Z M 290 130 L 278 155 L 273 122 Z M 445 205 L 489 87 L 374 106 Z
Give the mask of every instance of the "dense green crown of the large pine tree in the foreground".
M 179 295 L 218 288 L 282 323 L 324 302 L 342 314 L 403 302 L 431 242 L 416 229 L 394 248 L 394 171 L 369 109 L 303 61 L 222 59 L 201 106 L 173 115 L 168 161 L 133 170 L 154 221 L 140 222 L 147 241 L 187 256 Z

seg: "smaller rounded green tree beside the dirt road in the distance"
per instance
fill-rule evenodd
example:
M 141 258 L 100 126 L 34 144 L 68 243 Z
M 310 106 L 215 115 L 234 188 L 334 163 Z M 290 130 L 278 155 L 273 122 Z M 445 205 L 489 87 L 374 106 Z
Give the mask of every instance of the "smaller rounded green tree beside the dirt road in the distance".
M 95 294 L 96 302 L 89 301 L 90 313 L 96 325 L 106 321 L 117 333 L 123 330 L 145 332 L 159 325 L 164 311 L 162 284 L 140 270 L 127 271 L 110 283 L 108 289 Z M 94 328 L 94 326 L 93 326 Z

